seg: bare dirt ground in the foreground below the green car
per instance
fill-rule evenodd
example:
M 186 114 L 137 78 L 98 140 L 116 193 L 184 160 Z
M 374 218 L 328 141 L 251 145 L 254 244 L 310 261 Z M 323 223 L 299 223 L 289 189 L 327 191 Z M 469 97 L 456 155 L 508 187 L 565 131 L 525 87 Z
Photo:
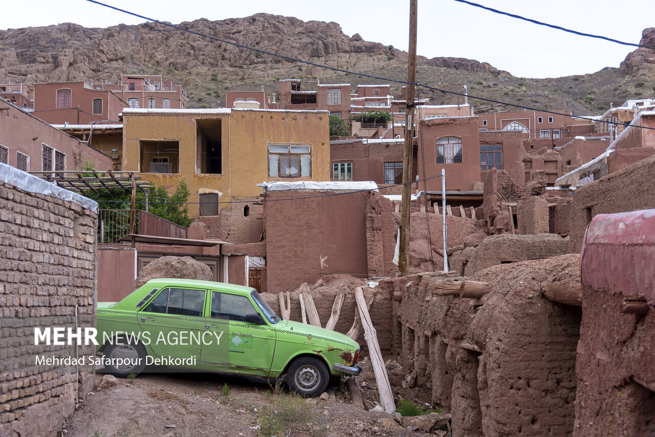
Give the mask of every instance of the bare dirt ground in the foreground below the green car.
M 96 379 L 100 383 L 102 374 Z M 226 383 L 227 396 L 221 393 Z M 344 396 L 337 393 L 337 399 Z M 288 400 L 299 401 L 293 408 L 303 410 L 291 410 L 292 416 L 304 413 L 309 417 L 290 436 L 420 435 L 400 427 L 389 415 L 338 400 L 294 400 L 284 392 L 276 393 L 265 379 L 201 373 L 141 374 L 131 383 L 119 378 L 116 385 L 87 394 L 60 435 L 255 437 L 267 421 L 284 414 L 277 409 L 285 408 Z

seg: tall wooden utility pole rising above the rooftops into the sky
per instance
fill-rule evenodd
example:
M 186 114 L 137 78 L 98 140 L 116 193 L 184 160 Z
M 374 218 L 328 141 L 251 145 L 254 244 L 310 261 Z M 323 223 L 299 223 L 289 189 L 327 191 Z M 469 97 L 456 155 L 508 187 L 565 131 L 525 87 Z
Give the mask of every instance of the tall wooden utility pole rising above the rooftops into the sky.
M 409 1 L 409 54 L 407 56 L 407 111 L 405 111 L 405 149 L 403 151 L 403 196 L 400 203 L 400 250 L 398 270 L 401 275 L 409 271 L 409 219 L 411 217 L 411 168 L 414 135 L 414 96 L 416 79 L 416 27 L 417 2 Z

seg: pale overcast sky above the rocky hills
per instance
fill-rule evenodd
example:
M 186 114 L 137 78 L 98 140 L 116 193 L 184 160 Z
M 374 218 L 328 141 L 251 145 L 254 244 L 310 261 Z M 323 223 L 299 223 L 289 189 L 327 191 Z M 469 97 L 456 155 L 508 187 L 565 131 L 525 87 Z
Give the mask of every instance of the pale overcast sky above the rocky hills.
M 337 22 L 344 33 L 407 50 L 409 1 L 398 0 L 242 0 L 106 3 L 178 24 L 197 18 L 223 20 L 257 12 L 295 16 L 304 21 Z M 655 27 L 655 1 L 633 0 L 478 0 L 478 3 L 629 43 Z M 539 6 L 537 6 L 539 5 Z M 139 24 L 145 20 L 85 0 L 32 0 L 21 12 L 0 14 L 0 29 L 73 22 L 84 27 Z M 489 62 L 517 77 L 561 77 L 618 67 L 634 48 L 580 37 L 493 14 L 453 0 L 419 0 L 417 53 Z

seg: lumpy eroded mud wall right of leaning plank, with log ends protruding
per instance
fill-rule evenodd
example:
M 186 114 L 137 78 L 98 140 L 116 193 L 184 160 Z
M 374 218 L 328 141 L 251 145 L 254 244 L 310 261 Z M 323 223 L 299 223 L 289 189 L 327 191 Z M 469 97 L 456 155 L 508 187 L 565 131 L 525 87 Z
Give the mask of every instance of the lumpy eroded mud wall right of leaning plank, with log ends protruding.
M 570 436 L 582 311 L 547 300 L 553 278 L 578 276 L 578 256 L 495 266 L 470 277 L 490 284 L 482 306 L 432 296 L 453 273 L 383 281 L 417 397 L 453 415 L 453 436 Z M 379 332 L 379 331 L 378 331 Z

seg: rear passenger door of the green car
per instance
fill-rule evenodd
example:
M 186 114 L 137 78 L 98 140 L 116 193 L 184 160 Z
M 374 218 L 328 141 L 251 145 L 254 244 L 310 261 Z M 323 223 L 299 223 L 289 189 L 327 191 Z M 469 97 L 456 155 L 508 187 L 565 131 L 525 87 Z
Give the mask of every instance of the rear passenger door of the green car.
M 149 338 L 153 357 L 200 358 L 206 294 L 201 288 L 166 287 L 141 309 L 141 335 Z

